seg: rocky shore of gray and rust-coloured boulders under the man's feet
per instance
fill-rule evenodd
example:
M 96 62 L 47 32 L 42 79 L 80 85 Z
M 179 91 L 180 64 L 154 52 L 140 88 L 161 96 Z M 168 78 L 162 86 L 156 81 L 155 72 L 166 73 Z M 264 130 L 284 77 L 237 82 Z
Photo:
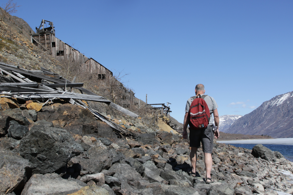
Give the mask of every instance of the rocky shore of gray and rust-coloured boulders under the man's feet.
M 30 102 L 11 109 L 16 103 L 5 103 L 1 108 L 7 109 L 0 112 L 0 194 L 293 192 L 293 163 L 262 145 L 248 150 L 215 142 L 216 182 L 206 184 L 201 148 L 200 177 L 191 177 L 189 144 L 181 135 L 145 129 L 141 119 L 125 116 L 117 123 L 132 127 L 138 136 L 124 137 L 76 105 L 53 103 L 37 109 Z

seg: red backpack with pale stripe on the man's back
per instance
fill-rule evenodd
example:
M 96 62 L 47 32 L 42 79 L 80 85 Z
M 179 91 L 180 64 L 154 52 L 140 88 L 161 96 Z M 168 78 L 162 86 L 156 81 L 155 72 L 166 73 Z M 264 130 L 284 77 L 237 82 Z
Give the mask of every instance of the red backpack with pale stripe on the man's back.
M 207 95 L 198 95 L 193 96 L 194 100 L 192 101 L 188 116 L 189 118 L 189 129 L 199 130 L 207 128 L 207 125 L 210 121 L 210 110 L 207 106 L 207 103 L 203 98 Z

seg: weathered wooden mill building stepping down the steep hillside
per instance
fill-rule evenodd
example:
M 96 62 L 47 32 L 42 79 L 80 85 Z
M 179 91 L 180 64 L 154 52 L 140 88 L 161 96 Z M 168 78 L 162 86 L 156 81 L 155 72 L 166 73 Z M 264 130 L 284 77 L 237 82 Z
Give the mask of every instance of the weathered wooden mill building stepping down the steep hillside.
M 45 24 L 48 24 L 49 27 L 44 27 Z M 31 42 L 42 47 L 58 61 L 70 59 L 75 63 L 80 63 L 83 71 L 94 74 L 97 79 L 109 79 L 113 77 L 112 71 L 105 66 L 93 58 L 86 57 L 83 53 L 56 38 L 53 22 L 43 19 L 41 25 L 36 27 L 36 33 L 31 35 Z M 125 105 L 134 104 L 133 91 L 125 88 L 125 95 L 123 97 Z

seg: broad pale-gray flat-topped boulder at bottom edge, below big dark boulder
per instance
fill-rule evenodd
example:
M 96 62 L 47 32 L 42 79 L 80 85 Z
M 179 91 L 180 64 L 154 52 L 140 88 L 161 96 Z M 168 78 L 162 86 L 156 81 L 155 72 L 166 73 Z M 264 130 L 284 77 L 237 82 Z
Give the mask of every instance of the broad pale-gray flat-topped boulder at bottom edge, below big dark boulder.
M 66 195 L 78 191 L 84 186 L 86 186 L 86 184 L 78 180 L 68 181 L 62 179 L 57 173 L 47 173 L 45 175 L 34 174 L 25 184 L 21 195 Z

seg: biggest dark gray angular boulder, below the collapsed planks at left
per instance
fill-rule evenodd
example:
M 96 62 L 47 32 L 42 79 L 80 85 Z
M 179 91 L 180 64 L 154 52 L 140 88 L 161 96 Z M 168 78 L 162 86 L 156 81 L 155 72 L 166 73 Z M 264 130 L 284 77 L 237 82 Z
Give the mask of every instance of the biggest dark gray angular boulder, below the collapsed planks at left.
M 83 148 L 64 129 L 36 125 L 21 139 L 18 152 L 33 163 L 33 173 L 45 174 L 65 166 Z

